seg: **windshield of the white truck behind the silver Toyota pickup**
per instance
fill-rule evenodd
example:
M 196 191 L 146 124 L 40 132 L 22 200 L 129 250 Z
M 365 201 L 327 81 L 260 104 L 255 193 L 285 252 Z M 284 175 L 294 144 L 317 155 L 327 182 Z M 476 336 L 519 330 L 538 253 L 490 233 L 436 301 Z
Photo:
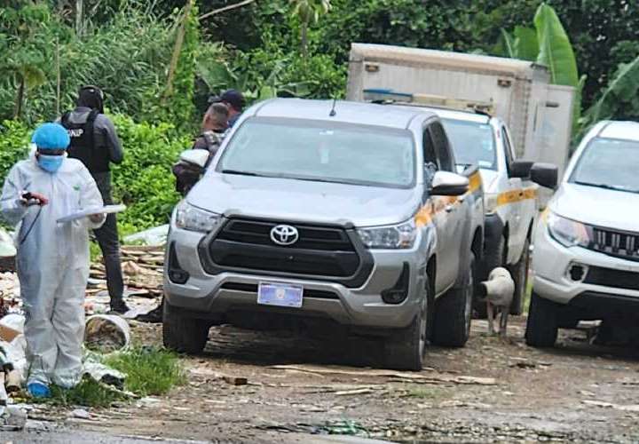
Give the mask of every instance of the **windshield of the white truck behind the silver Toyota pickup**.
M 488 123 L 442 120 L 458 165 L 497 170 L 493 128 Z

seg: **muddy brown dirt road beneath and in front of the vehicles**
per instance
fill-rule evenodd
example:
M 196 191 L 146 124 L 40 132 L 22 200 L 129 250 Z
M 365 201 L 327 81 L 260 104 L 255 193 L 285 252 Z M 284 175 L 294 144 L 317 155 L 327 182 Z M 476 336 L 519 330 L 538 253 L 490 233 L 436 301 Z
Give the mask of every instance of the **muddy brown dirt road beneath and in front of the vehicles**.
M 169 396 L 92 411 L 70 425 L 222 442 L 308 442 L 305 433 L 405 442 L 639 440 L 636 350 L 589 345 L 583 332 L 567 330 L 555 351 L 540 352 L 524 345 L 523 318 L 511 322 L 506 342 L 485 329 L 474 321 L 466 348 L 431 348 L 431 369 L 406 376 L 348 367 L 375 356 L 366 342 L 215 328 L 206 353 L 185 358 L 185 385 Z M 160 342 L 159 326 L 133 330 L 140 341 Z M 296 369 L 275 368 L 282 365 Z M 233 385 L 233 377 L 248 384 Z

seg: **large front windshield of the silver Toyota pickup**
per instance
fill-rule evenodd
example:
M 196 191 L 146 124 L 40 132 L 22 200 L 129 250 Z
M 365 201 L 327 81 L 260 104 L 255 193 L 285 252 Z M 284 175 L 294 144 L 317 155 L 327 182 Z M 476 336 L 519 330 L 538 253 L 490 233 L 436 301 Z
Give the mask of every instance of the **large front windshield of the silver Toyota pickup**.
M 414 184 L 410 131 L 302 119 L 254 118 L 230 140 L 217 171 L 353 185 Z

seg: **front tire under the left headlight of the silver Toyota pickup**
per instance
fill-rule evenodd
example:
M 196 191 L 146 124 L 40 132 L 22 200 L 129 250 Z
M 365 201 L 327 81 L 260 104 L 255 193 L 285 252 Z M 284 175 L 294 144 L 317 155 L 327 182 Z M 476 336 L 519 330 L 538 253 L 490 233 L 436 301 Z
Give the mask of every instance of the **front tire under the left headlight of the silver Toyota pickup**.
M 193 319 L 176 313 L 164 301 L 162 342 L 177 353 L 201 353 L 209 338 L 209 321 Z

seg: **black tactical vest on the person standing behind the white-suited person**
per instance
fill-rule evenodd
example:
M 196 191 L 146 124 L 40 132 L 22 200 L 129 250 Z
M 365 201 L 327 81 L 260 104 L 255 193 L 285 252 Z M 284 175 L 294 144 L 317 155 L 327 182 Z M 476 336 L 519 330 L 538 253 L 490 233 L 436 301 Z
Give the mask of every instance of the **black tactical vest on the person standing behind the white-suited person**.
M 89 172 L 106 172 L 110 170 L 109 153 L 106 147 L 96 147 L 95 138 L 93 136 L 93 123 L 99 115 L 97 109 L 91 110 L 85 123 L 71 123 L 69 121 L 70 111 L 62 116 L 61 123 L 69 134 L 71 144 L 67 149 L 68 156 L 72 159 L 78 159 Z

